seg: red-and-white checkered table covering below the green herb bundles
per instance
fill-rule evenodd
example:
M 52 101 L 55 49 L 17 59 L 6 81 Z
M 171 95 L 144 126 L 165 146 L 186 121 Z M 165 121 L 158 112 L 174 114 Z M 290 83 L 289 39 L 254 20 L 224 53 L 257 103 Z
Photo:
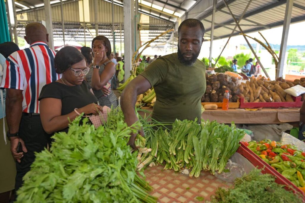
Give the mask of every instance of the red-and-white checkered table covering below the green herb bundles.
M 174 170 L 163 170 L 163 166 L 147 167 L 144 173 L 154 188 L 150 194 L 158 197 L 158 202 L 164 203 L 199 202 L 196 197 L 210 200 L 218 187 L 227 188 L 232 185 L 204 171 L 198 178 L 190 178 Z

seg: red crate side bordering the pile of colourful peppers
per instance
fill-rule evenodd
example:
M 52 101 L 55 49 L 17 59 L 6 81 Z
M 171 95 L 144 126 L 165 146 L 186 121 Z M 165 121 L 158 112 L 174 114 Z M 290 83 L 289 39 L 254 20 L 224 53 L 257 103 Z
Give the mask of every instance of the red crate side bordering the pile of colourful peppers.
M 237 152 L 248 159 L 254 166 L 262 169 L 262 173 L 269 173 L 276 177 L 275 182 L 278 184 L 285 185 L 286 190 L 292 190 L 294 193 L 303 194 L 303 201 L 305 201 L 305 194 L 300 190 L 296 185 L 294 185 L 290 180 L 282 176 L 277 170 L 272 168 L 269 164 L 267 164 L 263 159 L 257 156 L 251 149 L 249 149 L 246 145 L 240 143 L 240 147 L 237 149 Z

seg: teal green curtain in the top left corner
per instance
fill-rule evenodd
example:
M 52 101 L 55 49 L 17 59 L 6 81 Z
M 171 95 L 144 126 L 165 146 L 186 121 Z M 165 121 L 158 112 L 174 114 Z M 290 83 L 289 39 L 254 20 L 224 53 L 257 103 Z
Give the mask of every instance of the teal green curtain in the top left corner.
M 9 26 L 7 23 L 5 2 L 4 0 L 0 0 L 0 44 L 9 41 Z

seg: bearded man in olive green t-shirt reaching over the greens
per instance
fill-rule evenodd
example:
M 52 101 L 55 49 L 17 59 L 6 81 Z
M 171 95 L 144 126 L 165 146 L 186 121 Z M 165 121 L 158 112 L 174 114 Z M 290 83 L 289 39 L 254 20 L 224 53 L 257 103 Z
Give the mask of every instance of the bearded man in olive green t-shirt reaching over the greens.
M 178 52 L 157 58 L 126 86 L 120 104 L 128 126 L 138 121 L 135 114 L 137 95 L 152 87 L 156 92 L 153 119 L 172 123 L 176 118 L 198 118 L 200 122 L 200 99 L 206 90 L 206 67 L 197 58 L 203 35 L 204 26 L 199 20 L 184 20 L 178 28 Z M 144 136 L 143 131 L 139 133 Z M 133 149 L 136 149 L 135 136 L 131 135 L 128 142 Z

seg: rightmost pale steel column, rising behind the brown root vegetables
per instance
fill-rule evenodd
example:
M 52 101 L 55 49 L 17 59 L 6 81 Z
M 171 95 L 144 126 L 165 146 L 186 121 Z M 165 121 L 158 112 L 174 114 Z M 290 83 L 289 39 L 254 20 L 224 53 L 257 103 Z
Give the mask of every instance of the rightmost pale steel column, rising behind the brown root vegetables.
M 293 0 L 287 0 L 280 55 L 279 55 L 278 67 L 276 70 L 276 76 L 275 76 L 276 78 L 282 77 L 282 75 L 283 75 L 289 26 L 290 26 L 290 21 L 291 21 L 291 14 L 292 14 L 292 7 L 293 7 Z

